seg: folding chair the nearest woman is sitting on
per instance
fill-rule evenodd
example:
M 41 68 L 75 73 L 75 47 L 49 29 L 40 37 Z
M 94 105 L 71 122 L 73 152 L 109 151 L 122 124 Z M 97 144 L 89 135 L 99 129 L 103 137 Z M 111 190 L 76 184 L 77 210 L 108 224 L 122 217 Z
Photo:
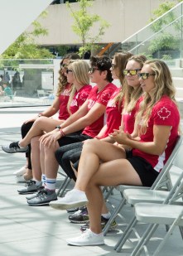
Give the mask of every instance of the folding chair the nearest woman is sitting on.
M 165 167 L 161 170 L 161 173 L 157 176 L 156 181 L 153 183 L 152 187 L 145 187 L 145 186 L 128 186 L 128 185 L 119 185 L 115 186 L 115 189 L 117 189 L 121 196 L 122 200 L 120 201 L 119 205 L 114 209 L 113 214 L 111 215 L 110 219 L 108 220 L 107 225 L 104 227 L 104 235 L 108 233 L 108 229 L 110 228 L 110 225 L 113 223 L 113 220 L 115 220 L 118 213 L 122 210 L 123 205 L 127 203 L 127 199 L 123 196 L 124 191 L 132 190 L 132 193 L 136 195 L 137 190 L 139 190 L 139 193 L 143 190 L 160 190 L 160 189 L 166 189 L 169 190 L 172 187 L 171 184 L 171 176 L 170 176 L 170 169 L 172 166 L 172 162 L 174 161 L 176 154 L 181 147 L 182 143 L 182 136 L 177 138 L 176 146 L 174 147 L 173 152 L 171 152 L 171 156 L 166 162 Z M 128 190 L 127 190 L 128 189 Z M 134 191 L 135 190 L 135 191 Z M 133 192 L 134 191 L 134 192 Z

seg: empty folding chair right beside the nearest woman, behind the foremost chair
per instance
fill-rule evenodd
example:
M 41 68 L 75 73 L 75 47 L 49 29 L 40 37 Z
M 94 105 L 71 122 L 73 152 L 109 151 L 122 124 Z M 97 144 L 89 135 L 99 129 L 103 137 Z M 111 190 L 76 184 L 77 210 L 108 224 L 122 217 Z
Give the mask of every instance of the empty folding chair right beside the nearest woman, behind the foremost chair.
M 176 147 L 174 151 L 171 153 L 171 157 L 166 162 L 166 170 L 162 170 L 160 178 L 157 181 L 157 184 L 151 188 L 151 190 L 139 190 L 139 189 L 129 189 L 123 192 L 123 196 L 128 201 L 129 204 L 136 205 L 138 202 L 156 202 L 162 204 L 167 203 L 171 196 L 173 195 L 174 191 L 180 184 L 180 180 L 183 176 L 183 162 L 181 163 L 181 151 L 183 149 L 183 144 L 181 144 L 182 138 L 179 138 L 178 142 L 176 143 Z M 171 167 L 178 167 L 180 168 L 180 175 L 174 186 L 172 186 L 171 191 L 158 191 L 160 185 L 164 185 L 166 179 L 165 177 L 169 176 L 169 171 Z M 162 181 L 162 182 L 161 182 Z M 170 183 L 170 182 L 168 182 Z M 176 198 L 177 199 L 177 198 Z M 175 203 L 175 202 L 174 202 Z M 182 203 L 182 200 L 177 200 L 177 204 Z M 123 244 L 127 241 L 129 235 L 134 231 L 134 227 L 137 225 L 137 219 L 134 217 L 130 224 L 128 225 L 127 229 L 124 230 L 122 237 L 118 240 L 118 243 L 115 245 L 114 249 L 117 252 L 120 252 Z M 183 235 L 183 234 L 182 234 Z M 146 238 L 146 236 L 145 236 Z M 139 245 L 138 245 L 139 246 Z M 136 255 L 136 254 L 133 254 Z

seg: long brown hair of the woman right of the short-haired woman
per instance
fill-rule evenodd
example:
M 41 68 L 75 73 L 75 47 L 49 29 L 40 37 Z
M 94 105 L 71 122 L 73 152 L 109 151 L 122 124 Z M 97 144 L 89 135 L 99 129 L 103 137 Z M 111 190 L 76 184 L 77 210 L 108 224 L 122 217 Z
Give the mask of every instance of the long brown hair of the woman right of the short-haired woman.
M 120 80 L 120 84 L 122 85 L 121 89 L 119 90 L 118 94 L 114 98 L 114 103 L 118 102 L 118 107 L 120 108 L 122 101 L 123 101 L 123 86 L 126 83 L 125 75 L 123 75 L 123 70 L 125 69 L 128 59 L 132 56 L 132 53 L 115 53 L 113 56 L 113 60 L 115 62 L 114 69 L 116 69 L 116 75 Z

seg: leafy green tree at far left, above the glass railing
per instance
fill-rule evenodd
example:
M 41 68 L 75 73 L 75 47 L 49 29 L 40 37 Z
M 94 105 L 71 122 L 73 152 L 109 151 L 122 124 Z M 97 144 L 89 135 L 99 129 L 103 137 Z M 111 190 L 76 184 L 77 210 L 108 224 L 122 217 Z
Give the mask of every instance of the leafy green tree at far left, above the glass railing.
M 46 17 L 46 12 L 41 13 Z M 46 48 L 35 43 L 35 37 L 46 36 L 48 31 L 39 22 L 32 22 L 32 31 L 25 31 L 3 52 L 1 59 L 45 59 L 54 56 Z

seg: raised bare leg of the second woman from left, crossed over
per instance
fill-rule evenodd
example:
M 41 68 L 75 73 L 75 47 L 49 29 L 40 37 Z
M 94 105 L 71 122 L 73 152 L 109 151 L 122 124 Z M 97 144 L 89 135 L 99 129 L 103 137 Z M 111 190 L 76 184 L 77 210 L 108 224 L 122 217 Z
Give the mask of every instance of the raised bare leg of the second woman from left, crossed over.
M 46 133 L 51 132 L 55 129 L 55 126 L 59 125 L 60 123 L 62 123 L 62 121 L 53 118 L 37 118 L 29 132 L 26 133 L 26 137 L 22 138 L 22 140 L 19 142 L 20 146 L 26 147 L 31 142 L 31 138 L 42 135 L 43 131 Z

